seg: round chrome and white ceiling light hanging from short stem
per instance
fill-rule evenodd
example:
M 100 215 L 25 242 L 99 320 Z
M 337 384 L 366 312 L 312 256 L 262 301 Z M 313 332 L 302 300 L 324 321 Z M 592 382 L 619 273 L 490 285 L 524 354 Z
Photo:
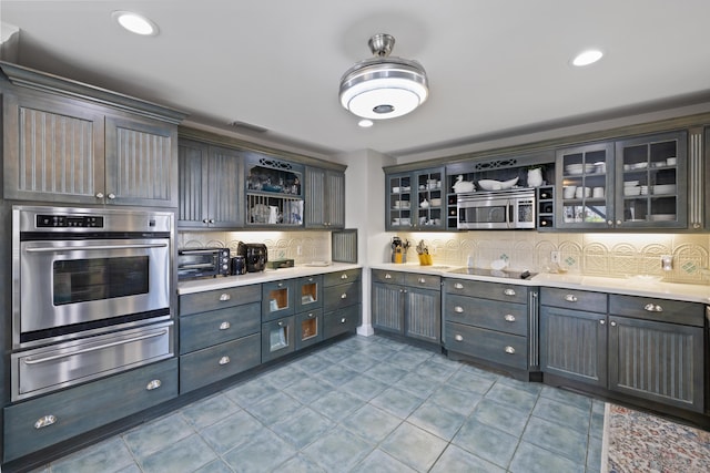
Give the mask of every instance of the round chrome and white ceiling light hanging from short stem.
M 357 62 L 341 78 L 341 104 L 369 120 L 406 115 L 428 94 L 426 71 L 417 61 L 389 56 L 395 39 L 375 34 L 367 42 L 374 58 Z

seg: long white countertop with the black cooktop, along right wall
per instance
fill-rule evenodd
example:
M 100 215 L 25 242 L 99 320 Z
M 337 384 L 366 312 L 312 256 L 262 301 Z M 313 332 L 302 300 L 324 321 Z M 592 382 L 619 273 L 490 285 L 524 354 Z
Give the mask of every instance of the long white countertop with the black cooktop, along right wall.
M 578 274 L 540 273 L 530 279 L 497 278 L 493 276 L 462 275 L 450 273 L 462 266 L 420 266 L 418 264 L 396 265 L 384 263 L 372 265 L 373 269 L 392 271 L 422 273 L 447 278 L 471 279 L 491 282 L 507 282 L 520 286 L 558 287 L 598 292 L 613 292 L 627 296 L 656 297 L 660 299 L 686 300 L 689 302 L 710 304 L 710 285 L 689 285 L 677 282 L 643 282 L 632 279 L 605 278 Z

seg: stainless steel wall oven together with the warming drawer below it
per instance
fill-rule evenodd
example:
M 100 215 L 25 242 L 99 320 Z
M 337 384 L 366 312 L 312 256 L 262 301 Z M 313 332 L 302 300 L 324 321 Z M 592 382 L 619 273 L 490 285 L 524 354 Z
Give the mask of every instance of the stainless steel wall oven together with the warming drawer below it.
M 173 356 L 164 212 L 13 206 L 13 401 Z

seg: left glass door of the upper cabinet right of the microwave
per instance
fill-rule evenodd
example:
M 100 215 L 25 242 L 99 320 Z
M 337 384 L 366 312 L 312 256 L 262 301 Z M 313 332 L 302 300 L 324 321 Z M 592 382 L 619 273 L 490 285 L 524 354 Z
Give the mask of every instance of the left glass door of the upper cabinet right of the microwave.
M 612 144 L 558 151 L 556 173 L 558 228 L 607 228 L 613 225 Z

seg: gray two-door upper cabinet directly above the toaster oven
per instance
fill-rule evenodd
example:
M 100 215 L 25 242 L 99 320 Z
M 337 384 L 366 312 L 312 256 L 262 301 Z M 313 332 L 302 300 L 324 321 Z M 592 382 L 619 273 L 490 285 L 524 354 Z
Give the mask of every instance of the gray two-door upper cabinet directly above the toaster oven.
M 244 173 L 239 153 L 225 147 L 181 140 L 178 155 L 178 226 L 242 227 Z

